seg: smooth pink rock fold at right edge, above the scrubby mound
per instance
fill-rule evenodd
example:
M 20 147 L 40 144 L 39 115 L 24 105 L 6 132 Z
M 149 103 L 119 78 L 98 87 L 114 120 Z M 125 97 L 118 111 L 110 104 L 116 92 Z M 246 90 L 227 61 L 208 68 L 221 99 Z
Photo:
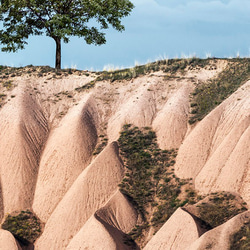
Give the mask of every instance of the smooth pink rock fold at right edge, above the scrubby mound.
M 196 177 L 196 188 L 204 193 L 218 190 L 237 192 L 250 204 L 249 124 L 250 117 L 228 134 Z

